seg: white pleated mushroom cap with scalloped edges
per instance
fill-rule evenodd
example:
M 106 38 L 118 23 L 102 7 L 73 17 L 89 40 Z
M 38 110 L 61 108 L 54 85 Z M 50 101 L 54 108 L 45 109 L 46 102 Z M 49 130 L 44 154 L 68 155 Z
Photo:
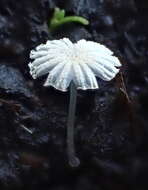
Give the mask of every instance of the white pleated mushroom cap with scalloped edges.
M 66 91 L 70 82 L 78 89 L 97 89 L 96 77 L 112 80 L 121 63 L 104 45 L 80 40 L 72 43 L 68 38 L 47 41 L 30 52 L 30 74 L 34 79 L 48 74 L 44 86 Z

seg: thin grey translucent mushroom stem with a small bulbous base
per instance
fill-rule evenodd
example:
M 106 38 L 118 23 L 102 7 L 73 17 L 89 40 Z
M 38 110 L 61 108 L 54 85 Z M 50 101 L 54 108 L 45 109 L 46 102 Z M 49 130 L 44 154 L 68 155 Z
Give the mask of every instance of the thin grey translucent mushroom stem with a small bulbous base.
M 75 110 L 77 101 L 77 89 L 73 82 L 70 84 L 70 103 L 69 113 L 67 122 L 67 154 L 70 166 L 78 167 L 80 164 L 79 159 L 75 156 L 74 147 L 74 121 L 75 121 Z

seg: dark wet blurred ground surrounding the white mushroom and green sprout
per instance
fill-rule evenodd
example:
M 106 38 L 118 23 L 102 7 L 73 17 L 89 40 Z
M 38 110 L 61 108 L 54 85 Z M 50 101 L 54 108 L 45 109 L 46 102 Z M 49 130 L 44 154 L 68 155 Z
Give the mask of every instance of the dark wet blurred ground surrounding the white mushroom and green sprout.
M 49 32 L 56 6 L 90 24 Z M 147 0 L 0 0 L 0 190 L 148 188 L 147 20 Z M 31 49 L 62 37 L 103 43 L 123 65 L 99 90 L 78 92 L 76 169 L 66 156 L 69 93 L 28 69 Z

